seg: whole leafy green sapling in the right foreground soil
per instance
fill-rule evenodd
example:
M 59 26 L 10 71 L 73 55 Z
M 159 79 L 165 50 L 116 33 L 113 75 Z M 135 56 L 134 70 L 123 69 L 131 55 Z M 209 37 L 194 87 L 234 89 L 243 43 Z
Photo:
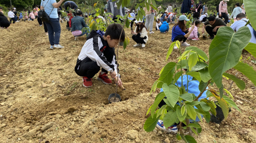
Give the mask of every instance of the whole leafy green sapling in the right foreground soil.
M 252 0 L 244 1 L 244 4 L 251 25 L 256 28 L 256 15 L 253 9 L 256 4 Z M 249 65 L 240 62 L 243 49 L 246 49 L 252 56 L 256 57 L 254 50 L 256 44 L 249 43 L 250 39 L 251 34 L 247 26 L 241 27 L 236 33 L 230 27 L 220 27 L 216 37 L 210 44 L 209 58 L 206 53 L 194 46 L 186 47 L 185 51 L 181 53 L 180 42 L 173 42 L 167 51 L 166 61 L 175 44 L 179 48 L 180 57 L 176 63 L 167 63 L 160 71 L 159 79 L 153 84 L 151 92 L 155 92 L 156 88 L 162 88 L 163 92 L 156 96 L 154 103 L 148 109 L 147 114 L 151 113 L 151 116 L 145 121 L 144 130 L 147 132 L 153 131 L 160 119 L 163 120 L 165 127 L 172 126 L 175 123 L 178 124 L 177 139 L 183 139 L 185 142 L 197 142 L 192 136 L 192 132 L 198 135 L 201 133 L 202 128 L 200 124 L 195 122 L 196 118 L 199 118 L 202 122 L 202 115 L 206 122 L 209 123 L 210 113 L 215 116 L 217 114 L 217 106 L 221 107 L 224 119 L 228 117 L 229 106 L 240 111 L 236 103 L 232 101 L 233 97 L 230 92 L 225 89 L 222 79 L 227 77 L 233 80 L 240 90 L 244 90 L 245 82 L 226 72 L 234 68 L 247 76 L 256 85 L 256 77 L 254 76 L 256 71 Z M 182 69 L 187 69 L 187 71 Z M 187 92 L 188 89 L 185 89 L 184 86 L 178 87 L 176 84 L 180 77 L 183 79 L 188 75 L 194 77 L 192 80 L 200 82 L 198 87 L 200 94 L 197 97 L 189 94 Z M 209 86 L 214 84 L 218 87 L 218 92 L 212 90 L 212 86 Z M 208 86 L 209 89 L 207 89 Z M 198 100 L 205 91 L 207 91 L 207 97 Z M 224 92 L 227 96 L 224 95 Z M 218 105 L 214 101 L 208 100 L 208 97 L 215 98 L 218 101 Z M 162 100 L 166 105 L 157 109 Z M 195 106 L 197 107 L 196 109 Z M 185 135 L 182 129 L 186 129 L 189 135 Z

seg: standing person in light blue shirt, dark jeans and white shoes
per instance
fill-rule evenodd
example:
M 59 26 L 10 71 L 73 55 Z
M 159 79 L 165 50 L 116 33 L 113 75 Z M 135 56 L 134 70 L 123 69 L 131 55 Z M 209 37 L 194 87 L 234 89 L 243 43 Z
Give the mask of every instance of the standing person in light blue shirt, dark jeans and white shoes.
M 48 3 L 46 1 L 43 3 L 43 1 L 44 0 L 41 0 L 40 9 L 44 9 L 50 17 L 50 21 L 45 22 L 48 29 L 49 42 L 51 44 L 50 49 L 63 48 L 63 46 L 59 44 L 61 29 L 57 8 L 61 5 L 62 2 L 64 2 L 64 0 L 60 0 L 58 3 L 56 0 L 49 0 Z

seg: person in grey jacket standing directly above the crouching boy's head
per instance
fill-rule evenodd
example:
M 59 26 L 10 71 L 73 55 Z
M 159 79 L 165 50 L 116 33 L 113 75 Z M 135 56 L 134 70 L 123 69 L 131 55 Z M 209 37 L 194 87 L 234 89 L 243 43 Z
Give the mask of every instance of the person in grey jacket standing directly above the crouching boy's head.
M 109 0 L 108 1 L 108 13 L 112 13 L 112 15 L 110 15 L 110 17 L 116 21 L 117 19 L 117 15 L 120 15 L 120 16 L 124 16 L 125 15 L 125 8 L 123 7 L 122 8 L 122 5 L 120 6 L 120 8 L 117 8 L 117 1 L 115 2 L 112 2 L 112 0 Z M 122 21 L 122 20 L 121 20 Z

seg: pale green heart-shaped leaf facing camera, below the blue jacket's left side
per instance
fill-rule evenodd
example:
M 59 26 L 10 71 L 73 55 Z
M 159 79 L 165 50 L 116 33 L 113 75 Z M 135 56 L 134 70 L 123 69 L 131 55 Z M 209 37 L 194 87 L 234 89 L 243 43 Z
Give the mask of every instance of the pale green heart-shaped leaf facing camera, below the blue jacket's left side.
M 170 105 L 174 107 L 179 99 L 179 89 L 173 84 L 168 86 L 166 83 L 163 84 L 162 88 L 165 96 L 167 97 L 167 100 L 170 102 Z

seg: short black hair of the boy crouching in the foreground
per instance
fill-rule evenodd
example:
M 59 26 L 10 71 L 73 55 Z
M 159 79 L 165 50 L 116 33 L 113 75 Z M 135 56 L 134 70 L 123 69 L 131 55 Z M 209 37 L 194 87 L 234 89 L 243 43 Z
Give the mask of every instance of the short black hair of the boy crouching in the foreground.
M 124 39 L 125 39 L 125 33 L 123 30 L 123 26 L 121 24 L 114 23 L 114 24 L 110 24 L 108 26 L 108 28 L 106 28 L 105 36 L 109 35 L 111 40 L 112 39 L 119 40 L 121 32 L 122 32 L 122 35 L 121 35 L 120 42 L 124 41 Z

